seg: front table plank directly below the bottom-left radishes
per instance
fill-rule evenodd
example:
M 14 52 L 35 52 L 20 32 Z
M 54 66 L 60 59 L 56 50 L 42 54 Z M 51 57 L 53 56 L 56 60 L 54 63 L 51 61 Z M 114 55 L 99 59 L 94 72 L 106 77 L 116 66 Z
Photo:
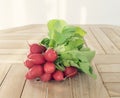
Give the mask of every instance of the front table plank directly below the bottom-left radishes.
M 48 98 L 47 96 L 47 83 L 32 80 L 27 80 L 21 98 Z

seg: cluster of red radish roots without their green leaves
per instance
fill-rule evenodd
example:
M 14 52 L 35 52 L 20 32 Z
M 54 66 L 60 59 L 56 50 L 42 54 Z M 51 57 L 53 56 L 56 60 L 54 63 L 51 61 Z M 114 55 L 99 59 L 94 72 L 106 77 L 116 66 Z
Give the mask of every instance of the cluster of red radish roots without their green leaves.
M 29 69 L 26 79 L 40 79 L 47 82 L 50 80 L 62 81 L 68 77 L 73 77 L 78 73 L 77 68 L 69 66 L 64 71 L 58 70 L 55 61 L 58 58 L 57 52 L 53 48 L 46 48 L 41 44 L 29 45 L 30 51 L 24 65 Z

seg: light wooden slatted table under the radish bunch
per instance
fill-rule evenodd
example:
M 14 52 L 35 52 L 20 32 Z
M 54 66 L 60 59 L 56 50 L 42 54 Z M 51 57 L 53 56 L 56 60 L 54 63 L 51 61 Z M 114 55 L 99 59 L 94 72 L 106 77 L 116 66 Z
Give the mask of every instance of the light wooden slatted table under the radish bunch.
M 25 79 L 23 65 L 28 44 L 47 36 L 45 25 L 0 31 L 0 98 L 120 98 L 120 27 L 81 26 L 88 33 L 86 45 L 96 51 L 94 80 L 85 74 L 63 82 L 43 83 Z

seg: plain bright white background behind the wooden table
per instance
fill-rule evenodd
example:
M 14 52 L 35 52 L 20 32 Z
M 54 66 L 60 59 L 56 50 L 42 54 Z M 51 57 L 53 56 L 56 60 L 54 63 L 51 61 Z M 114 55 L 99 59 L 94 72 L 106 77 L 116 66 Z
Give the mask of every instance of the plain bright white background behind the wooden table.
M 52 18 L 120 25 L 120 0 L 0 0 L 0 29 L 45 24 Z

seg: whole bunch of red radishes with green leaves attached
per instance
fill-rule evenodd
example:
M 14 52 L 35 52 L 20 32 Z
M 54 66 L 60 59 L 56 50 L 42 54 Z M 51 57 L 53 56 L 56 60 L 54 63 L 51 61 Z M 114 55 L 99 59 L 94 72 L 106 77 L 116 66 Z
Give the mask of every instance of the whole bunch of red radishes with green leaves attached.
M 86 32 L 64 20 L 50 20 L 47 26 L 48 36 L 29 45 L 29 54 L 24 62 L 29 69 L 26 79 L 62 81 L 78 72 L 96 79 L 91 66 L 95 51 L 84 45 Z

